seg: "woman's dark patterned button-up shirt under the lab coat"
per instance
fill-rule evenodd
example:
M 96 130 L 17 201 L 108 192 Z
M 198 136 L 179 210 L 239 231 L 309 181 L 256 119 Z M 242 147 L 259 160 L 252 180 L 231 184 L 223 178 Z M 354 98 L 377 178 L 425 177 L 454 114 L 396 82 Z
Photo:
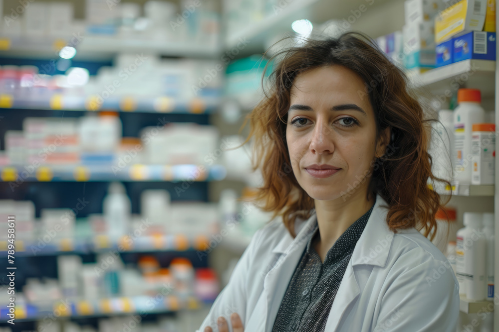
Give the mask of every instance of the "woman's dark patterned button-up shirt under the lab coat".
M 373 208 L 374 205 L 341 234 L 327 252 L 324 263 L 313 247 L 315 238 L 320 239 L 315 225 L 289 281 L 272 332 L 324 331 L 341 279 Z

